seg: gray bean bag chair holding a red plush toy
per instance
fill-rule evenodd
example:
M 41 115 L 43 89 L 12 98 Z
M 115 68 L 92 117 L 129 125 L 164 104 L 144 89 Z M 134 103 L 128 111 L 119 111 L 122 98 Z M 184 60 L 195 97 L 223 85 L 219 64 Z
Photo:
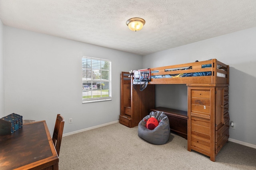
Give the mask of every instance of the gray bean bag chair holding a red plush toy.
M 146 128 L 146 121 L 151 116 L 154 116 L 159 124 L 153 129 Z M 162 145 L 168 142 L 170 136 L 170 124 L 168 117 L 162 111 L 152 111 L 149 115 L 144 117 L 138 125 L 138 136 L 155 145 Z

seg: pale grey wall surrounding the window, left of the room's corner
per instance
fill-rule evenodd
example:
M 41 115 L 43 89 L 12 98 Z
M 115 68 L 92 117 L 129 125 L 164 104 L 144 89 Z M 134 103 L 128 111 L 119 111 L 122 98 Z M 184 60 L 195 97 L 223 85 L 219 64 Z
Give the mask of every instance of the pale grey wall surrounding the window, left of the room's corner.
M 14 27 L 4 26 L 4 43 L 5 114 L 46 120 L 51 133 L 57 113 L 64 133 L 117 121 L 120 72 L 142 66 L 139 55 Z M 112 101 L 82 104 L 82 56 L 112 61 Z

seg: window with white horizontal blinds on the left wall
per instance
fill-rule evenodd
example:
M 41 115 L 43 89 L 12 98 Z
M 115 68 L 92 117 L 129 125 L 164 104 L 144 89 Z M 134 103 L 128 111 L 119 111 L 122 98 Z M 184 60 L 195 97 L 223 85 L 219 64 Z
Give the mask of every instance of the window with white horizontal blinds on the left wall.
M 111 100 L 111 61 L 82 57 L 82 102 Z

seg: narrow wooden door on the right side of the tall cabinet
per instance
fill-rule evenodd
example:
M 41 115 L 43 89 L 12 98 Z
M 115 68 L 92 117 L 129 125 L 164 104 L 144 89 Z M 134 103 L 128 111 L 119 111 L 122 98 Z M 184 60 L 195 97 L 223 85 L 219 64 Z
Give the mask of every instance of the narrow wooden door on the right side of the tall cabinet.
M 223 107 L 224 107 L 224 88 L 216 88 L 216 117 L 215 117 L 215 129 L 218 130 L 224 125 L 223 119 Z

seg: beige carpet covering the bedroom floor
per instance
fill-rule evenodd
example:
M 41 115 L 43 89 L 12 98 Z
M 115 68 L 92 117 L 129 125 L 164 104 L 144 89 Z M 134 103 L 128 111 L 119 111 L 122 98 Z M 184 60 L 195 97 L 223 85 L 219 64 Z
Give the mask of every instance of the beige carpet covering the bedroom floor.
M 120 123 L 62 138 L 60 170 L 256 170 L 256 149 L 228 142 L 216 156 L 187 150 L 187 140 L 171 133 L 165 145 L 138 137 L 138 126 Z

